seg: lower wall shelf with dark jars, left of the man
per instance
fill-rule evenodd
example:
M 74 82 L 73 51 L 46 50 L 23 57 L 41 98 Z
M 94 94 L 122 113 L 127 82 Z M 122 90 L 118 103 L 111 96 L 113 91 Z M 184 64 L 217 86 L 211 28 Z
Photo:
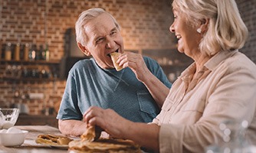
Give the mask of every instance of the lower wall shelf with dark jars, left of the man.
M 0 80 L 54 81 L 59 79 L 61 60 L 0 60 Z

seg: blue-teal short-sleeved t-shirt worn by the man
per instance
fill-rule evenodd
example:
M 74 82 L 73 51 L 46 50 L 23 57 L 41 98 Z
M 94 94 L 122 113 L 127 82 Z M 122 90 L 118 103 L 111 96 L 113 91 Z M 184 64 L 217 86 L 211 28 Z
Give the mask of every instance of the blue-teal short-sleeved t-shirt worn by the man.
M 149 70 L 170 88 L 172 84 L 159 64 L 143 58 Z M 133 122 L 152 122 L 159 113 L 146 86 L 130 68 L 103 70 L 93 58 L 80 60 L 71 68 L 57 119 L 81 120 L 90 106 L 113 109 Z

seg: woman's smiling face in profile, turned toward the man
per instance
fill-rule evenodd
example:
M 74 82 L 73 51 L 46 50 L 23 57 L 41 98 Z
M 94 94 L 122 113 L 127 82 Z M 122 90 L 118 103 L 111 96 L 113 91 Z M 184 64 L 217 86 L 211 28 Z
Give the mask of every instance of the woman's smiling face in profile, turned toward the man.
M 199 54 L 199 43 L 202 36 L 196 31 L 197 28 L 195 26 L 186 21 L 183 13 L 173 9 L 173 15 L 174 21 L 169 30 L 175 33 L 178 39 L 178 50 L 193 58 L 196 54 Z

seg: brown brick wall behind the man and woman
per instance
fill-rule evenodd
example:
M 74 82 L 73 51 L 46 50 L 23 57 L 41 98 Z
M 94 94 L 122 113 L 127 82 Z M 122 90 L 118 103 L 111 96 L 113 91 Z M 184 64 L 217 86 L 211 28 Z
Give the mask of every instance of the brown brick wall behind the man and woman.
M 166 49 L 174 44 L 169 33 L 172 24 L 170 0 L 1 0 L 0 41 L 2 43 L 49 44 L 51 60 L 64 56 L 64 34 L 81 11 L 87 8 L 105 8 L 122 27 L 125 48 L 129 50 Z M 256 63 L 255 1 L 237 0 L 242 18 L 250 30 L 250 38 L 242 49 Z M 0 65 L 3 73 L 5 66 Z M 0 74 L 2 75 L 2 74 Z M 25 81 L 0 79 L 0 107 L 25 103 L 33 115 L 60 102 L 64 80 Z M 44 99 L 14 98 L 15 93 L 44 93 Z

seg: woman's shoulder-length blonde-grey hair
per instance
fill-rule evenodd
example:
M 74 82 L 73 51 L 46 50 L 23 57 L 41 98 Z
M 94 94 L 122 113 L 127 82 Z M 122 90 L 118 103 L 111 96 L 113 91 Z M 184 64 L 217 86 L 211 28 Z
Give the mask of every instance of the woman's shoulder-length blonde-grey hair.
M 190 23 L 209 19 L 208 31 L 199 44 L 202 53 L 211 56 L 220 50 L 237 50 L 247 40 L 248 29 L 235 0 L 173 0 L 172 7 Z

